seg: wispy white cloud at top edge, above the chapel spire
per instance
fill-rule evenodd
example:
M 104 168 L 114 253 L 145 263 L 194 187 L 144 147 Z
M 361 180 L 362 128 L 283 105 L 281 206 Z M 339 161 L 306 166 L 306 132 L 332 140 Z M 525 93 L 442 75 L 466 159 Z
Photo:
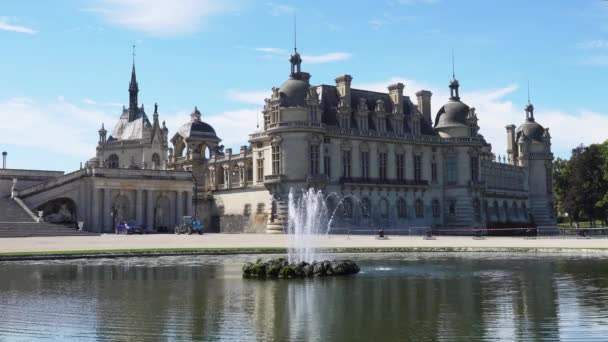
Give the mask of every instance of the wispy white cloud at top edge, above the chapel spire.
M 101 15 L 112 24 L 156 36 L 199 30 L 205 17 L 233 11 L 237 0 L 98 0 L 83 11 Z

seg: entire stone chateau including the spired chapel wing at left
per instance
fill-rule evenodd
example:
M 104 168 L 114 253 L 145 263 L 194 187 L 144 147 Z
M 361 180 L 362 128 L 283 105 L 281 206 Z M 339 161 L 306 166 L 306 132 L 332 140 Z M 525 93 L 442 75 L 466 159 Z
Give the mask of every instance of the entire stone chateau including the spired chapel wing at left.
M 519 127 L 506 126 L 508 158 L 497 160 L 455 77 L 433 117 L 430 91 L 354 89 L 350 75 L 315 86 L 297 50 L 290 63 L 265 99 L 263 125 L 238 151 L 196 107 L 172 135 L 156 105 L 150 122 L 133 66 L 129 107 L 111 135 L 102 125 L 95 157 L 72 174 L 21 177 L 13 195 L 32 211 L 63 201 L 97 232 L 117 218 L 163 230 L 196 215 L 207 231 L 282 233 L 290 189 L 311 187 L 327 194 L 336 229 L 555 224 L 551 136 L 532 104 Z

